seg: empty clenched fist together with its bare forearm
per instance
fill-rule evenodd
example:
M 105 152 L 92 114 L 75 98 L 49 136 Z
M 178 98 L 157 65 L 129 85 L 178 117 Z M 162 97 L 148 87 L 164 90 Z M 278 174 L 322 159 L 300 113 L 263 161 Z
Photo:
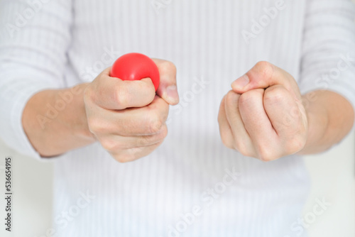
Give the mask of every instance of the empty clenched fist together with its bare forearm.
M 228 148 L 263 161 L 320 153 L 351 130 L 354 109 L 337 93 L 305 95 L 295 79 L 258 62 L 231 84 L 219 109 L 219 131 Z

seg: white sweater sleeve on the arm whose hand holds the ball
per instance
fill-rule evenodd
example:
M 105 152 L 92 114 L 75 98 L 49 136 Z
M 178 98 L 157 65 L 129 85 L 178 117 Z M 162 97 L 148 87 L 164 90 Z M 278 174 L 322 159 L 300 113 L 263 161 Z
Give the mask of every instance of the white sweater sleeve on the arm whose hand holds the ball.
M 0 138 L 40 158 L 23 131 L 28 99 L 64 87 L 72 0 L 0 1 Z

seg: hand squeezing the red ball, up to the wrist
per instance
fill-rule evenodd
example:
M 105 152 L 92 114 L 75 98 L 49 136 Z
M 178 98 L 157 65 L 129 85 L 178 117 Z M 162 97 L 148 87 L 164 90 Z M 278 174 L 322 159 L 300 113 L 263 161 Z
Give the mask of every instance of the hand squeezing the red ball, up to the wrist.
M 154 60 L 160 72 L 155 95 L 151 79 L 122 81 L 104 70 L 84 91 L 89 131 L 119 162 L 151 153 L 167 136 L 169 104 L 178 104 L 173 63 Z

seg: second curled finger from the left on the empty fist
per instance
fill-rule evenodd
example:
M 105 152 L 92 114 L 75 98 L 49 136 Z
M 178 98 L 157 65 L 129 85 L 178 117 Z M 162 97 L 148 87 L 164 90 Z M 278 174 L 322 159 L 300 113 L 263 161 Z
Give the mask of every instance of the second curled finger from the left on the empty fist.
M 239 109 L 239 99 L 241 95 L 230 91 L 226 94 L 224 106 L 226 109 L 226 118 L 229 126 L 231 126 L 231 133 L 234 138 L 234 148 L 239 150 L 243 155 L 255 156 L 252 140 L 241 118 Z

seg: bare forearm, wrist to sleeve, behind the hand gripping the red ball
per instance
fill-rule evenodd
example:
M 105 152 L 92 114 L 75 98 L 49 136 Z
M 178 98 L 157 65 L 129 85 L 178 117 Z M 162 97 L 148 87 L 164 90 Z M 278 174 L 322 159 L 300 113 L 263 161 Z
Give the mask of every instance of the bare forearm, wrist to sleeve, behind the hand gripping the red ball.
M 87 126 L 83 92 L 87 84 L 35 94 L 23 111 L 23 129 L 43 157 L 60 155 L 95 141 Z

